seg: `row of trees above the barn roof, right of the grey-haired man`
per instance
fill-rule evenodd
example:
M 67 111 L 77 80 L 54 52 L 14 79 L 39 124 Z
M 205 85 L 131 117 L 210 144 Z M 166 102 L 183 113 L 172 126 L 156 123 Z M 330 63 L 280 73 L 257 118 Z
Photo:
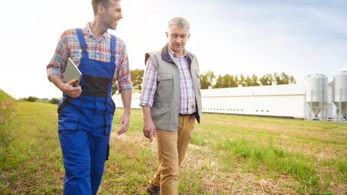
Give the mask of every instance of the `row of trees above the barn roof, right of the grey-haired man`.
M 260 85 L 271 85 L 273 81 L 277 84 L 295 84 L 296 80 L 294 76 L 287 75 L 286 73 L 267 73 L 258 79 L 258 76 L 254 73 L 253 76 L 249 75 L 219 75 L 216 77 L 213 71 L 206 71 L 201 74 L 201 89 L 208 89 L 209 86 L 212 88 L 229 88 L 238 87 L 238 84 L 242 84 L 243 87 L 260 86 Z

